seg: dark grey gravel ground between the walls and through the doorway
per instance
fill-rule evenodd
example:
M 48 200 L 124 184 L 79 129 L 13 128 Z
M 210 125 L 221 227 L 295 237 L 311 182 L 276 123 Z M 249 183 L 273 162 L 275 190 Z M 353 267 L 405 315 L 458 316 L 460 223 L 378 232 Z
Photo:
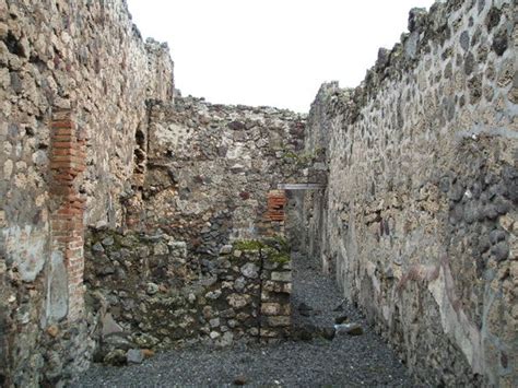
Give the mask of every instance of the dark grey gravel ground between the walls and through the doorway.
M 358 311 L 342 303 L 332 280 L 318 264 L 294 257 L 293 324 L 330 327 L 346 315 L 364 329 L 362 336 L 337 336 L 332 341 L 285 341 L 271 345 L 228 349 L 195 346 L 172 350 L 125 367 L 92 366 L 73 387 L 185 387 L 185 386 L 346 386 L 410 387 L 405 368 L 366 325 Z M 311 309 L 301 315 L 304 303 Z M 335 310 L 341 306 L 340 310 Z

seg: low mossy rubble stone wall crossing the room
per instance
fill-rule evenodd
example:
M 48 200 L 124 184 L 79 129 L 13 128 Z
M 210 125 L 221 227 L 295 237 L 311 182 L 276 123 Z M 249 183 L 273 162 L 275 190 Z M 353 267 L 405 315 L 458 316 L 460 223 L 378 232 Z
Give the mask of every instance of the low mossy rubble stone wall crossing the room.
M 289 334 L 286 244 L 237 240 L 202 266 L 166 234 L 92 231 L 85 250 L 87 304 L 97 313 L 96 360 L 202 342 L 231 345 Z

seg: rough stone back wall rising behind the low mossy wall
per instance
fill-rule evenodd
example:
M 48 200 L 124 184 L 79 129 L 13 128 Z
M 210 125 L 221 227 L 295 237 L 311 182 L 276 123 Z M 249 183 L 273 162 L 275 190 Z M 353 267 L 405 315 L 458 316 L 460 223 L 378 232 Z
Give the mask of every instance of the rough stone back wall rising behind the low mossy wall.
M 201 256 L 263 235 L 268 191 L 304 174 L 304 126 L 303 115 L 269 107 L 192 97 L 153 106 L 127 224 L 162 228 Z

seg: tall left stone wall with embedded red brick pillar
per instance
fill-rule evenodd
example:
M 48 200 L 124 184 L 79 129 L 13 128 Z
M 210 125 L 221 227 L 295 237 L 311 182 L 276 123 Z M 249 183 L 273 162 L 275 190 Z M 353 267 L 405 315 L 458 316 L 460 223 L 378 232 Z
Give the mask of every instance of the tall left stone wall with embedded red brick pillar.
M 82 224 L 120 222 L 145 101 L 172 95 L 167 48 L 123 1 L 0 0 L 0 385 L 84 365 L 84 325 L 63 324 L 83 313 Z M 73 122 L 52 118 L 63 109 Z

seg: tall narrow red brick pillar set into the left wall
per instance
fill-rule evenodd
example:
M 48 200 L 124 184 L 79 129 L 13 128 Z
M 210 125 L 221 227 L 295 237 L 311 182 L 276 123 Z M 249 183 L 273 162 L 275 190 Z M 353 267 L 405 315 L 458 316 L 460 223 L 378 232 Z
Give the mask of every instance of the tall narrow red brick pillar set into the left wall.
M 52 252 L 63 258 L 68 277 L 67 317 L 74 321 L 81 317 L 84 304 L 84 199 L 79 196 L 79 184 L 85 169 L 85 144 L 69 109 L 54 111 L 50 129 Z

